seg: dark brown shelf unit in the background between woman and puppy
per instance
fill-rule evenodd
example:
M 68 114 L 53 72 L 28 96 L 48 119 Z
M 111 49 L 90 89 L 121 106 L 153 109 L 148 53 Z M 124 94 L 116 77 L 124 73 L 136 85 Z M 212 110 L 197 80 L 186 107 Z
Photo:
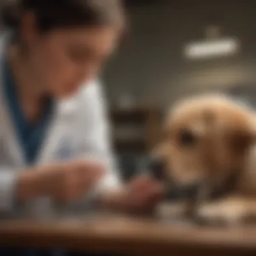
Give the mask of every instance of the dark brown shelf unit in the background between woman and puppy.
M 115 149 L 149 152 L 156 145 L 161 113 L 156 106 L 112 108 L 110 119 L 113 124 Z

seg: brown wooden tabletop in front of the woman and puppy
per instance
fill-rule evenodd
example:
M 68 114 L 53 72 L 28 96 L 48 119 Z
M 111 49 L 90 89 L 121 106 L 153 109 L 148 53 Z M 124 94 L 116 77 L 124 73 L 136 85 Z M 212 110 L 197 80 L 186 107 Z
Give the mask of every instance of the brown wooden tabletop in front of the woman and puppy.
M 256 255 L 256 227 L 207 229 L 122 216 L 17 220 L 0 223 L 0 245 L 118 255 Z

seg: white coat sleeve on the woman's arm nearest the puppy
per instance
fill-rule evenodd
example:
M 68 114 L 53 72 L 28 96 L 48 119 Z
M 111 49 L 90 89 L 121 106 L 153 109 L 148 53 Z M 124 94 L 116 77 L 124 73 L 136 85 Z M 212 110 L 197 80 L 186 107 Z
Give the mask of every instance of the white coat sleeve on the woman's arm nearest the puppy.
M 82 156 L 95 158 L 106 166 L 105 177 L 100 181 L 94 193 L 116 189 L 121 186 L 121 179 L 111 146 L 110 123 L 108 122 L 104 92 L 99 82 L 94 82 L 85 88 L 83 113 Z

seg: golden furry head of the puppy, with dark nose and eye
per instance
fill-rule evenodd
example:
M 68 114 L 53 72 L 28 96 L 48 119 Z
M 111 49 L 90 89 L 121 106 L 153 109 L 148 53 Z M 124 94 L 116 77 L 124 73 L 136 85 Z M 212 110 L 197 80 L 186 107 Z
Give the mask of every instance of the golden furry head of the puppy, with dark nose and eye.
M 179 187 L 220 187 L 243 170 L 255 138 L 249 108 L 218 95 L 183 100 L 168 115 L 154 152 L 158 171 Z

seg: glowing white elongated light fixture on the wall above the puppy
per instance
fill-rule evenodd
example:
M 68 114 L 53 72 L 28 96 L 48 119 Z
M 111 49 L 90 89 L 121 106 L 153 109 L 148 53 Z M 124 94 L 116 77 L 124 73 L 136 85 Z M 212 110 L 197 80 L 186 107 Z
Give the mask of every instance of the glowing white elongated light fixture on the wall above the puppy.
M 185 56 L 188 59 L 205 59 L 213 57 L 224 57 L 238 53 L 239 44 L 234 38 L 223 38 L 218 40 L 206 40 L 204 42 L 193 42 L 185 46 Z

